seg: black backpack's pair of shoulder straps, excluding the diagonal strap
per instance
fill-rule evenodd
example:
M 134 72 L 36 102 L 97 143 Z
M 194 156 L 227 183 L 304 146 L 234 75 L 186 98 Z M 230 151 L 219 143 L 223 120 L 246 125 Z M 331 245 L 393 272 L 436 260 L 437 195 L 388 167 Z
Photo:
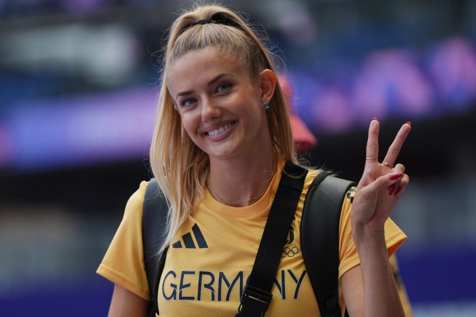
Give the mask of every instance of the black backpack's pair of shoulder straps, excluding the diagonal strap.
M 344 196 L 353 186 L 356 184 L 352 181 L 321 172 L 311 183 L 302 210 L 301 251 L 322 317 L 341 316 L 338 291 L 339 220 Z M 146 189 L 142 218 L 144 261 L 151 295 L 149 316 L 152 317 L 155 313 L 159 314 L 159 280 L 167 250 L 160 256 L 156 252 L 157 246 L 165 239 L 167 211 L 168 206 L 157 180 L 152 178 Z M 326 261 L 321 260 L 323 255 Z M 348 316 L 347 311 L 345 314 Z

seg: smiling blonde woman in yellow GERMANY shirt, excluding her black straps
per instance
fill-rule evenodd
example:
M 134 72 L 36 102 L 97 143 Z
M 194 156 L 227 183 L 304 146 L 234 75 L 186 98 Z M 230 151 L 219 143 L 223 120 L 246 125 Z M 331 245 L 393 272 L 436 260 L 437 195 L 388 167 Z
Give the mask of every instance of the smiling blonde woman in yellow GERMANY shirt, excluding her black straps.
M 195 7 L 172 25 L 150 153 L 170 203 L 166 244 L 158 246 L 159 252 L 170 246 L 159 285 L 161 316 L 237 313 L 238 284 L 251 271 L 283 166 L 298 163 L 271 56 L 245 22 L 222 6 Z M 374 119 L 364 173 L 341 215 L 341 304 L 352 317 L 404 316 L 388 255 L 406 236 L 389 215 L 409 182 L 404 166 L 393 164 L 410 123 L 398 132 L 384 163 L 377 160 L 378 131 Z M 309 171 L 293 220 L 297 247 L 302 203 L 318 172 Z M 115 283 L 110 316 L 146 316 L 146 186 L 141 183 L 128 201 L 98 269 Z M 282 284 L 272 290 L 267 316 L 319 316 L 305 271 L 299 252 L 280 262 Z

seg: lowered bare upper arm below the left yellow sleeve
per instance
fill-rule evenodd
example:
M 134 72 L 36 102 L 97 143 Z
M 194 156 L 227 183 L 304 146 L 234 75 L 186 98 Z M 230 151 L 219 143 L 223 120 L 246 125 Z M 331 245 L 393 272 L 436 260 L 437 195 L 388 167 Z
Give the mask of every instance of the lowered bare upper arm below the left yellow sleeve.
M 132 293 L 128 289 L 114 284 L 113 299 L 109 308 L 109 317 L 147 317 L 149 301 Z

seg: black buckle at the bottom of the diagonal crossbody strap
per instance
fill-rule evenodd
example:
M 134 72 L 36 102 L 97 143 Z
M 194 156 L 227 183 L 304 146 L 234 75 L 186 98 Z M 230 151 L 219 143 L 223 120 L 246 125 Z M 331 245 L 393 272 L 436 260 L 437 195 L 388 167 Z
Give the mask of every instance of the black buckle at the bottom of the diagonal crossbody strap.
M 239 299 L 238 314 L 235 317 L 263 317 L 268 310 L 273 294 L 252 285 L 246 285 Z

